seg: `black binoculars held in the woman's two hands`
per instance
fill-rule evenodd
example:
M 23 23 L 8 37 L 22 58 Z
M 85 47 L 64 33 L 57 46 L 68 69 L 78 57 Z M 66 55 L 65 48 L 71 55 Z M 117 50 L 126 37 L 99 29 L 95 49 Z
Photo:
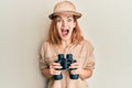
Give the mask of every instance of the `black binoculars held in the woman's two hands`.
M 64 70 L 67 69 L 69 70 L 69 77 L 70 79 L 78 79 L 79 75 L 72 75 L 70 70 L 77 69 L 77 68 L 69 68 L 70 64 L 76 63 L 75 59 L 73 59 L 73 55 L 72 54 L 67 54 L 66 58 L 64 57 L 64 54 L 58 54 L 58 59 L 55 61 L 55 63 L 59 63 L 62 68 L 56 68 L 56 70 Z M 54 75 L 53 78 L 55 80 L 61 80 L 63 79 L 63 75 Z

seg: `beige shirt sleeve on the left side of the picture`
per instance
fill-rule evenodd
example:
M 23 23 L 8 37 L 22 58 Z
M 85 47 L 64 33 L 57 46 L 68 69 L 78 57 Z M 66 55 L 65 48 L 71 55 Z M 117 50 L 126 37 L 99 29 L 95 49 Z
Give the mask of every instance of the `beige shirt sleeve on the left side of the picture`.
M 41 59 L 40 59 L 40 68 L 48 68 L 48 64 L 45 61 L 45 53 L 46 53 L 46 44 L 44 43 L 41 48 Z

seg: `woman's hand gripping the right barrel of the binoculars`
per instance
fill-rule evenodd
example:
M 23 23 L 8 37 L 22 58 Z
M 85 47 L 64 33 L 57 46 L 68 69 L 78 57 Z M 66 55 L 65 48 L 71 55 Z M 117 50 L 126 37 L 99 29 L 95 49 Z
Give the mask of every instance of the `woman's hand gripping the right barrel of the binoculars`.
M 79 75 L 82 70 L 82 67 L 79 63 L 73 63 L 70 64 L 69 68 L 77 68 L 77 69 L 74 69 L 74 70 L 70 70 L 70 74 L 72 75 Z

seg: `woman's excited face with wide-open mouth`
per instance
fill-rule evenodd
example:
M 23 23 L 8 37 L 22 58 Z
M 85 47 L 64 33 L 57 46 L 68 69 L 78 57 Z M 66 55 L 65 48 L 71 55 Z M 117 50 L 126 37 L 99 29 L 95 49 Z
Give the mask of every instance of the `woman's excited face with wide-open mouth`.
M 70 41 L 75 24 L 73 15 L 61 14 L 56 18 L 56 29 L 63 41 Z

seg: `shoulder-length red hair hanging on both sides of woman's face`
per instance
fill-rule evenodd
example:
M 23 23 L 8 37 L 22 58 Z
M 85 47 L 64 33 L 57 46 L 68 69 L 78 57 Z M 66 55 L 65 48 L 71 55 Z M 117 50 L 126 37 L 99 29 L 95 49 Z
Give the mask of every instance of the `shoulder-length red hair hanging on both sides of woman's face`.
M 61 45 L 62 38 L 61 38 L 58 31 L 56 29 L 56 20 L 55 19 L 56 18 L 54 18 L 51 22 L 50 31 L 48 31 L 48 35 L 47 35 L 47 41 L 53 45 Z M 74 21 L 76 22 L 76 25 L 75 25 L 73 33 L 72 33 L 72 43 L 79 44 L 84 40 L 84 37 L 81 35 L 80 28 L 78 25 L 76 16 L 74 16 Z

